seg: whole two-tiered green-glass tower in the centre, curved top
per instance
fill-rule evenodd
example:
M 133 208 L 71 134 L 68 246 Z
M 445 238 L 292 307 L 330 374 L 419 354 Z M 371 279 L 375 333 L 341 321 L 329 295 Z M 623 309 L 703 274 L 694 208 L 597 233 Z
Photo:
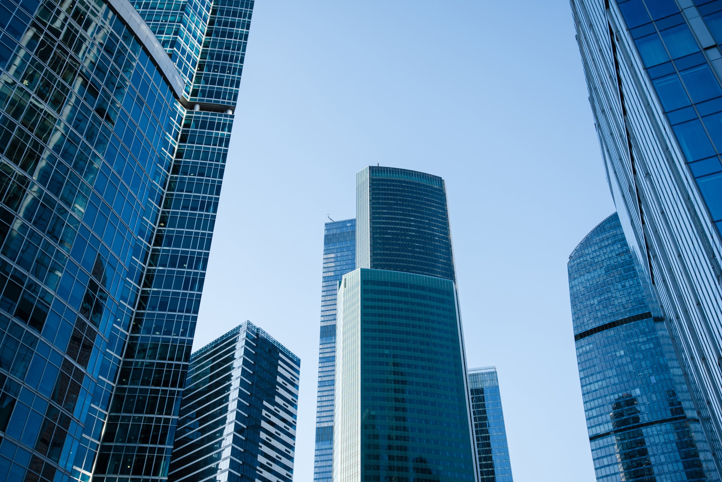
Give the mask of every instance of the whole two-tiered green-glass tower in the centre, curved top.
M 477 477 L 444 181 L 357 174 L 356 266 L 339 286 L 334 481 Z

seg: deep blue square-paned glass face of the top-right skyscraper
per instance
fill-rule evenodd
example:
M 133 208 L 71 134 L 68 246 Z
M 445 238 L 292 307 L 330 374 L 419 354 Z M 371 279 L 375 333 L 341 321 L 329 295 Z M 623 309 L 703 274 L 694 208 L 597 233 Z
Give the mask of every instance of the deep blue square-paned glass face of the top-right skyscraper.
M 674 1 L 618 4 L 687 165 L 722 232 L 722 87 L 713 64 Z M 695 4 L 716 41 L 722 42 L 722 4 L 709 0 Z

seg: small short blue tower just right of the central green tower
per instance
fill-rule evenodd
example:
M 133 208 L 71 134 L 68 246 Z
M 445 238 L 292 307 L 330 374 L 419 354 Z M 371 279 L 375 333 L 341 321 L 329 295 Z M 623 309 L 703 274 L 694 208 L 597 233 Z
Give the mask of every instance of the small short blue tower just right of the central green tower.
M 513 482 L 496 367 L 469 370 L 479 482 Z

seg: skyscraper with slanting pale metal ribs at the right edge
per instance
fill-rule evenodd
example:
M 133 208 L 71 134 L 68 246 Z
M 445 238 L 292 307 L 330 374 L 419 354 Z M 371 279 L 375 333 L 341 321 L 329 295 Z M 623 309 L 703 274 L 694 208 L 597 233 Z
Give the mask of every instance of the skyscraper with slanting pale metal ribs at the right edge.
M 718 472 L 722 446 L 722 6 L 573 0 L 619 221 L 651 286 Z

